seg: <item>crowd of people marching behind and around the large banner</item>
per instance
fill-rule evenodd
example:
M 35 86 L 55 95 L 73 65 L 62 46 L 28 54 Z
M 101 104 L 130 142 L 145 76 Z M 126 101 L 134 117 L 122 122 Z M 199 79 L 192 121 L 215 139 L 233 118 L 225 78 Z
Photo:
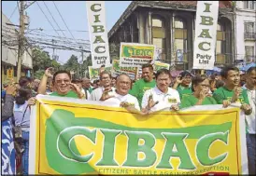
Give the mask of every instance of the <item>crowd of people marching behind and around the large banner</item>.
M 36 104 L 36 94 L 43 94 L 111 102 L 112 106 L 141 115 L 162 110 L 181 111 L 195 105 L 222 104 L 226 108 L 238 103 L 246 115 L 249 174 L 255 174 L 256 67 L 249 68 L 243 76 L 245 82 L 241 81 L 236 67 L 226 66 L 220 74 L 193 75 L 184 71 L 172 77 L 169 70 L 155 73 L 151 64 L 145 64 L 136 81 L 127 74 L 111 77 L 102 70 L 99 80 L 91 82 L 87 77 L 72 77 L 67 71 L 53 74 L 52 68 L 45 71 L 41 80 L 21 77 L 19 83 L 4 85 L 2 91 L 2 171 L 19 172 L 16 167 L 21 163 L 21 173 L 28 174 L 31 106 Z M 10 150 L 11 143 L 15 150 Z

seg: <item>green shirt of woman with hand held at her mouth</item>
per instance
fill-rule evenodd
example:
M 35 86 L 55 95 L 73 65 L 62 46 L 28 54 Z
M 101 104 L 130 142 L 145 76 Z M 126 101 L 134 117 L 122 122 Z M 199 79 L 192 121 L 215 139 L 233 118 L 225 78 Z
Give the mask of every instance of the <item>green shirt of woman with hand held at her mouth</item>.
M 181 108 L 194 106 L 196 102 L 198 102 L 198 99 L 194 97 L 194 95 L 185 96 L 181 101 Z M 208 104 L 218 104 L 218 103 L 215 101 L 214 98 L 206 97 L 202 102 L 202 105 L 208 105 Z

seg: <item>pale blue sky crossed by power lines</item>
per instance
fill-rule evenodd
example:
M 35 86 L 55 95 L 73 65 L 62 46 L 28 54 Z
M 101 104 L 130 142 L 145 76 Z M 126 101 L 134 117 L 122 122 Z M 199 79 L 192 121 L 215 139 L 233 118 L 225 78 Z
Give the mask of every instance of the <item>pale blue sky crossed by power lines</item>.
M 32 2 L 32 1 L 27 1 Z M 37 5 L 38 3 L 38 5 Z M 54 7 L 52 1 L 37 1 L 31 7 L 26 9 L 26 13 L 30 18 L 29 29 L 38 29 L 42 28 L 43 31 L 31 31 L 31 33 L 38 34 L 49 34 L 58 36 L 60 34 L 67 38 L 72 38 L 72 35 L 76 39 L 89 40 L 88 32 L 78 32 L 78 31 L 88 31 L 88 20 L 87 20 L 87 11 L 86 11 L 86 2 L 85 1 L 54 1 L 55 5 L 58 7 L 66 25 L 68 26 L 71 34 L 68 32 L 67 28 L 64 25 L 64 21 L 59 15 L 57 9 Z M 45 4 L 46 6 L 45 6 Z M 131 1 L 106 1 L 106 15 L 107 15 L 107 31 L 109 31 L 112 26 L 116 23 L 117 20 L 121 17 L 121 14 L 124 12 L 126 7 L 130 5 Z M 44 11 L 50 22 L 46 19 L 40 8 Z M 50 12 L 48 11 L 48 8 Z M 15 9 L 16 8 L 16 9 Z M 2 12 L 7 16 L 7 18 L 14 24 L 19 24 L 19 10 L 17 8 L 17 1 L 2 1 Z M 60 29 L 65 30 L 57 31 L 57 33 L 53 30 L 50 23 L 57 30 L 58 25 L 50 16 L 52 15 L 53 19 L 56 20 Z M 35 35 L 34 35 L 35 36 Z M 37 37 L 43 37 L 38 36 Z M 50 56 L 53 52 L 52 48 L 45 48 L 46 51 L 49 51 Z M 72 54 L 78 56 L 78 60 L 81 61 L 81 53 L 76 51 L 55 50 L 55 54 L 59 55 L 59 62 L 64 63 L 67 61 Z

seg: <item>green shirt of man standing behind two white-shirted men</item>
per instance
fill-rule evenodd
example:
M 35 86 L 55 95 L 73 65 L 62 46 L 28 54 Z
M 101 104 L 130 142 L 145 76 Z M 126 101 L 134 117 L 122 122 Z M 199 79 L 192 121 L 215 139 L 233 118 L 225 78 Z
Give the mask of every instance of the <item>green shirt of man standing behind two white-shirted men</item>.
M 137 98 L 137 101 L 141 108 L 141 102 L 144 92 L 150 88 L 154 88 L 155 86 L 156 82 L 154 79 L 151 82 L 146 82 L 144 79 L 139 79 L 135 82 L 135 85 L 132 89 L 130 89 L 129 93 Z

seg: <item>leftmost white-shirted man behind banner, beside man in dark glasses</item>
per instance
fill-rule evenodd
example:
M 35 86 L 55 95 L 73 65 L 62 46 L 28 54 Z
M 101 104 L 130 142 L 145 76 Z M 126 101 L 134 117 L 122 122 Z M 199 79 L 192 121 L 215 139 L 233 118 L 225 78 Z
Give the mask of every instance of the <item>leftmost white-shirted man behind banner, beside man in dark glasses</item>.
M 110 86 L 111 83 L 111 75 L 104 71 L 100 74 L 100 85 L 99 88 L 92 90 L 89 101 L 100 101 L 104 92 L 108 92 L 108 94 L 113 94 L 115 88 Z

